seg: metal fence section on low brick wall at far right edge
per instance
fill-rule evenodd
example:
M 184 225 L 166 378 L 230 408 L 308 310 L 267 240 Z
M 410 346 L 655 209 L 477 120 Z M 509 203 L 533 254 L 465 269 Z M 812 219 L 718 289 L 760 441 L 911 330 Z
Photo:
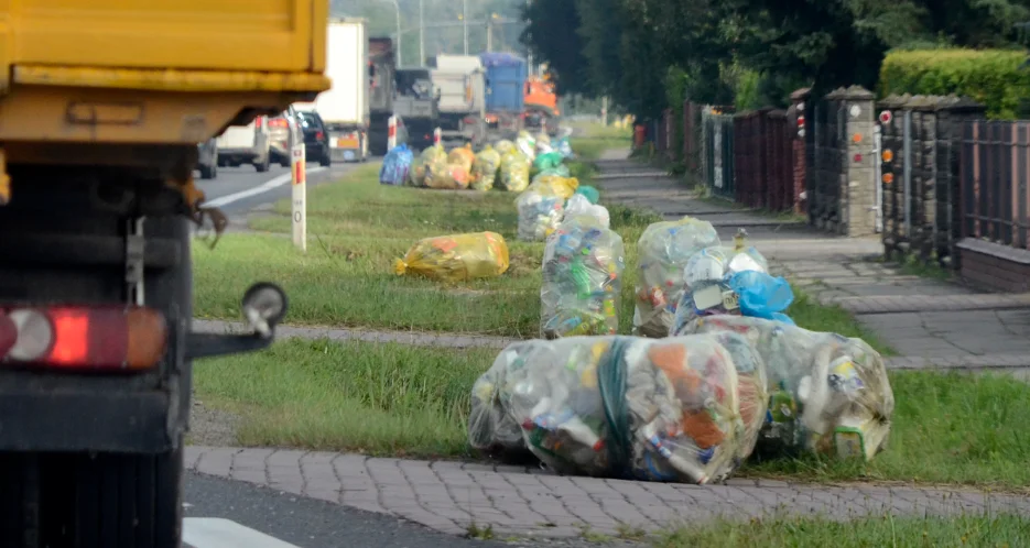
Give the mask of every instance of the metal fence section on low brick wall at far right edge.
M 963 127 L 962 235 L 1030 250 L 1030 121 Z

